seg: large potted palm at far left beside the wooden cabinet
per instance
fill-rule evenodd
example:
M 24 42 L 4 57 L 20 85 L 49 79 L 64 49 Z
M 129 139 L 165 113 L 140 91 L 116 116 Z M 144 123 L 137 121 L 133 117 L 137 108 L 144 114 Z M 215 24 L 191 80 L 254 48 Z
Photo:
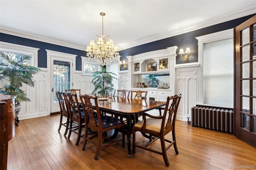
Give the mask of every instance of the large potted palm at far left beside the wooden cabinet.
M 6 53 L 0 51 L 2 62 L 0 63 L 0 80 L 8 80 L 8 84 L 0 89 L 0 93 L 16 95 L 15 99 L 15 124 L 18 126 L 18 114 L 20 103 L 29 102 L 26 93 L 20 89 L 23 85 L 34 87 L 33 75 L 40 71 L 39 68 L 25 64 L 31 58 L 30 55 L 22 55 L 21 58 L 11 59 Z

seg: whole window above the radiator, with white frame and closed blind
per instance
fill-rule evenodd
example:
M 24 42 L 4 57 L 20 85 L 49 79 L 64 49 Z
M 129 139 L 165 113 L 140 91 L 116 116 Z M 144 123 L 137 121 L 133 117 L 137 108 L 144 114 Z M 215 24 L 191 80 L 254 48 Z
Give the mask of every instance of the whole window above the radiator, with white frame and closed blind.
M 198 105 L 233 108 L 233 29 L 197 37 Z

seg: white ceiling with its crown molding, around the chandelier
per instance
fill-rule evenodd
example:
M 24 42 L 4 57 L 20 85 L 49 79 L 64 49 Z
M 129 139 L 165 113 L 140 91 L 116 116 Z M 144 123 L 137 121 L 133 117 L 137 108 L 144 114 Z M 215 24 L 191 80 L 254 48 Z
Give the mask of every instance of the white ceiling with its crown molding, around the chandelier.
M 0 0 L 0 32 L 85 50 L 109 35 L 120 49 L 256 13 L 256 0 Z

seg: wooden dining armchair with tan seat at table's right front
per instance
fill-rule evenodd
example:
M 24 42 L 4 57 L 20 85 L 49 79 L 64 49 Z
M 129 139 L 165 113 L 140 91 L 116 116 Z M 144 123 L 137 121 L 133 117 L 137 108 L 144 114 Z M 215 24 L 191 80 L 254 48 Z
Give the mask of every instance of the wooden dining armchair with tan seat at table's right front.
M 175 138 L 175 120 L 176 120 L 178 105 L 180 103 L 180 98 L 181 98 L 181 94 L 174 95 L 171 97 L 168 96 L 166 101 L 166 107 L 159 109 L 160 116 L 153 116 L 147 113 L 144 113 L 142 115 L 143 120 L 136 123 L 134 127 L 132 127 L 132 152 L 133 153 L 135 153 L 135 147 L 149 150 L 151 152 L 162 155 L 166 166 L 170 165 L 167 158 L 166 150 L 168 150 L 173 145 L 176 154 L 179 153 L 177 144 L 176 144 L 176 138 Z M 169 105 L 171 100 L 172 100 L 172 103 Z M 163 115 L 161 115 L 162 110 L 164 110 Z M 149 118 L 146 119 L 146 117 L 149 117 Z M 144 146 L 140 144 L 136 144 L 136 131 L 140 131 L 142 133 L 155 136 L 156 138 L 154 138 L 154 140 L 152 141 L 149 141 Z M 171 131 L 172 131 L 172 141 L 164 138 L 164 136 Z M 160 152 L 159 150 L 154 150 L 153 148 L 148 148 L 148 146 L 153 142 L 155 142 L 158 138 L 160 138 L 160 141 L 161 141 L 162 152 Z M 169 143 L 167 147 L 165 145 L 165 142 Z

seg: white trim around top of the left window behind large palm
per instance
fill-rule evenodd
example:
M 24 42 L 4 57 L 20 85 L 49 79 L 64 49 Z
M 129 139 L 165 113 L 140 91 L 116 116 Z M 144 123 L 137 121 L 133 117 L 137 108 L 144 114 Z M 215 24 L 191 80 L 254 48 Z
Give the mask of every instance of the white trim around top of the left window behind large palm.
M 24 45 L 18 45 L 13 43 L 0 42 L 0 50 L 5 52 L 22 53 L 31 55 L 32 65 L 38 67 L 38 50 L 40 48 L 28 47 Z

